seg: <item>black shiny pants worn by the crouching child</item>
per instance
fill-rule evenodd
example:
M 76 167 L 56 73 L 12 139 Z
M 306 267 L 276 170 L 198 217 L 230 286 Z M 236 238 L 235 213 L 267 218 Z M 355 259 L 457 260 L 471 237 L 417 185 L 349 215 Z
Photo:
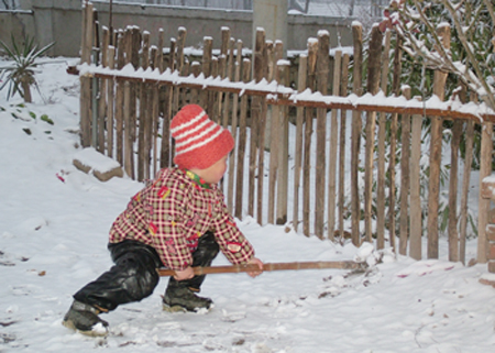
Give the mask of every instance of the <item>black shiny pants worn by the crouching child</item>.
M 163 266 L 157 252 L 150 245 L 132 240 L 109 244 L 108 249 L 116 265 L 77 291 L 74 299 L 107 311 L 121 304 L 140 301 L 151 296 L 160 282 L 156 268 Z M 193 253 L 193 266 L 211 265 L 218 252 L 213 233 L 205 233 Z M 205 275 L 201 275 L 180 280 L 179 284 L 199 291 L 204 280 Z M 170 282 L 175 279 L 170 277 Z

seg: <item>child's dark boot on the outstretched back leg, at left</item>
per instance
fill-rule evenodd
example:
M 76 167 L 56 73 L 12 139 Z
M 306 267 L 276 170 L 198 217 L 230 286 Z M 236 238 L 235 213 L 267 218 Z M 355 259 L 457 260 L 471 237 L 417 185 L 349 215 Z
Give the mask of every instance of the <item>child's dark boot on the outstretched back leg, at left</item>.
M 108 334 L 108 322 L 98 317 L 100 312 L 94 306 L 74 300 L 62 324 L 86 335 L 105 337 Z

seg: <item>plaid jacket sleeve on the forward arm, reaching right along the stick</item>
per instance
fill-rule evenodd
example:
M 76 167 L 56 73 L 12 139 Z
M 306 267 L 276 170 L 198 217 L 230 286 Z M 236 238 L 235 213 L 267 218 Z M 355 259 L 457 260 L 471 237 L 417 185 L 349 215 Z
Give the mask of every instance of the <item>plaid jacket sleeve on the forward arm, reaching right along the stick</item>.
M 223 197 L 220 197 L 220 212 L 213 220 L 216 240 L 230 263 L 245 264 L 254 256 L 254 249 L 235 224 L 223 202 Z

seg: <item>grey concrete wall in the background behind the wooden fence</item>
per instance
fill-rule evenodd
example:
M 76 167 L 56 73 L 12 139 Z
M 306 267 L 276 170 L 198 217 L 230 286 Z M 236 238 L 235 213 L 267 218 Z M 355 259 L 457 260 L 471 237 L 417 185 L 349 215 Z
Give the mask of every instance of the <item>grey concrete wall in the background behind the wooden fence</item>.
M 79 56 L 81 37 L 80 0 L 20 0 L 21 11 L 0 12 L 0 40 L 10 43 L 11 33 L 21 40 L 24 35 L 35 36 L 40 45 L 55 42 L 52 56 Z M 92 1 L 102 25 L 109 25 L 109 2 Z M 151 32 L 152 44 L 156 44 L 160 29 L 165 31 L 166 43 L 177 36 L 177 29 L 187 29 L 187 46 L 199 47 L 204 36 L 213 38 L 218 48 L 221 27 L 228 26 L 231 36 L 242 40 L 244 47 L 252 43 L 252 12 L 198 10 L 158 5 L 113 4 L 113 27 L 124 29 L 138 25 Z M 351 22 L 353 19 L 327 16 L 288 15 L 288 49 L 305 49 L 308 37 L 317 37 L 318 31 L 330 33 L 330 46 L 352 45 Z M 340 37 L 340 43 L 338 42 Z M 18 41 L 19 41 L 18 40 Z M 20 42 L 19 42 L 20 43 Z

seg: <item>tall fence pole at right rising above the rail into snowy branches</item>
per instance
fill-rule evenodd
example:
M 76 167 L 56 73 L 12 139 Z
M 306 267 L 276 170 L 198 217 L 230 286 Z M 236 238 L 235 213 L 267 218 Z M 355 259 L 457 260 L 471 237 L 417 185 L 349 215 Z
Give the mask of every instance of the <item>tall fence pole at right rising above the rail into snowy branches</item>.
M 450 48 L 450 25 L 442 24 L 438 27 L 438 35 L 442 38 L 443 46 Z M 447 74 L 435 71 L 433 95 L 440 101 L 446 96 Z M 442 157 L 442 129 L 443 119 L 431 118 L 431 145 L 430 145 L 430 177 L 428 185 L 428 258 L 438 258 L 438 210 L 440 196 L 440 168 Z

